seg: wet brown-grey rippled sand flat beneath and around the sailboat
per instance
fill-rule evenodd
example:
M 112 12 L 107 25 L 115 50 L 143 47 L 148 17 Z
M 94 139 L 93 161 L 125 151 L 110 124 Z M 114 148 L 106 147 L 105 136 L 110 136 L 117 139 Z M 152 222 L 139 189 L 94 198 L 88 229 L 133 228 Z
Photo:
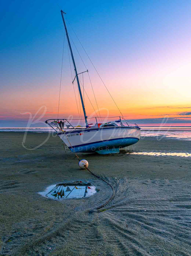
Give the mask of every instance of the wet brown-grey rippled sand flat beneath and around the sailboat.
M 109 185 L 80 170 L 58 137 L 35 150 L 23 133 L 0 133 L 0 255 L 191 255 L 191 158 L 79 154 Z M 35 147 L 45 133 L 28 133 Z M 129 152 L 188 152 L 191 141 L 147 137 Z M 53 201 L 38 192 L 90 181 L 94 196 Z

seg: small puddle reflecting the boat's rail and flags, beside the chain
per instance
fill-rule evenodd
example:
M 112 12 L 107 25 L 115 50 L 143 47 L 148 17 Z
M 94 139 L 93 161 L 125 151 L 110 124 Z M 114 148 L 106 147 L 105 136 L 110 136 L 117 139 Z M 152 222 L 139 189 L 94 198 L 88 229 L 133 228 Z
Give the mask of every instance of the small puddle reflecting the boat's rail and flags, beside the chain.
M 95 193 L 96 187 L 83 181 L 59 183 L 49 186 L 43 192 L 39 192 L 41 196 L 54 200 L 89 197 Z

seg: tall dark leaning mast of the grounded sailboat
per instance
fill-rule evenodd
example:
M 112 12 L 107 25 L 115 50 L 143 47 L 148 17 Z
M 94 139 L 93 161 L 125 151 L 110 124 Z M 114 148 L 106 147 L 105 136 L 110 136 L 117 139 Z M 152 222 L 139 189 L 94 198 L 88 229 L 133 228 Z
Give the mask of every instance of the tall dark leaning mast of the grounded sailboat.
M 75 63 L 75 60 L 74 60 L 74 57 L 73 57 L 73 52 L 72 52 L 72 48 L 71 48 L 71 44 L 70 44 L 70 39 L 69 39 L 69 36 L 68 36 L 68 31 L 67 31 L 67 28 L 66 28 L 66 23 L 65 23 L 65 19 L 64 19 L 63 13 L 64 13 L 63 10 L 61 10 L 62 20 L 63 20 L 64 27 L 65 27 L 65 30 L 66 30 L 66 37 L 67 37 L 67 40 L 68 40 L 68 45 L 69 45 L 69 48 L 70 48 L 70 53 L 71 53 L 71 57 L 72 57 L 72 61 L 73 61 L 73 66 L 74 66 L 74 70 L 75 70 L 75 73 L 76 73 L 76 80 L 77 80 L 77 84 L 78 84 L 78 90 L 79 90 L 79 93 L 80 93 L 80 99 L 81 99 L 81 103 L 82 103 L 83 114 L 84 114 L 84 117 L 85 117 L 86 126 L 88 126 L 86 111 L 85 111 L 85 107 L 84 107 L 84 103 L 83 103 L 83 97 L 82 97 L 82 92 L 81 92 L 81 88 L 80 88 L 80 82 L 79 82 L 78 73 L 77 73 L 77 69 L 76 69 L 76 63 Z

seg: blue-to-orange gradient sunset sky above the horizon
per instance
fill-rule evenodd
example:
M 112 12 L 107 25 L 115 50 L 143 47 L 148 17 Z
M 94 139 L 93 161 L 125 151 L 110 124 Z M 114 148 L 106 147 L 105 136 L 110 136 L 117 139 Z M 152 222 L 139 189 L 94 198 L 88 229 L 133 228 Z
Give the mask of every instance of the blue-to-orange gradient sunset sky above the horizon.
M 163 117 L 191 123 L 190 0 L 15 0 L 3 1 L 0 10 L 0 127 L 24 126 L 39 109 L 36 117 L 46 109 L 41 121 L 57 118 L 65 33 L 60 9 L 102 116 L 120 113 L 71 26 L 123 116 L 137 123 L 160 123 Z M 86 68 L 73 42 L 80 73 Z M 62 74 L 59 117 L 78 118 L 66 37 Z M 84 86 L 97 110 L 87 73 Z M 78 101 L 76 82 L 74 87 Z M 94 115 L 91 103 L 85 94 L 87 116 Z

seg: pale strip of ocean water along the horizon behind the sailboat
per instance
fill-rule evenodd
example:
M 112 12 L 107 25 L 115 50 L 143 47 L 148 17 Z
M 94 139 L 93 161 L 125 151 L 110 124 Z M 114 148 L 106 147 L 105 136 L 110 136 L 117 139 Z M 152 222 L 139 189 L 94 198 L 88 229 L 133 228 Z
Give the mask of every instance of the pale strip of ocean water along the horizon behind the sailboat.
M 178 126 L 179 125 L 179 126 Z M 153 124 L 140 125 L 141 136 L 163 136 L 165 138 L 173 138 L 180 140 L 191 140 L 191 124 L 183 126 L 178 124 L 176 126 L 157 126 Z M 51 127 L 0 127 L 0 131 L 11 132 L 34 132 L 34 133 L 48 133 L 54 132 Z

